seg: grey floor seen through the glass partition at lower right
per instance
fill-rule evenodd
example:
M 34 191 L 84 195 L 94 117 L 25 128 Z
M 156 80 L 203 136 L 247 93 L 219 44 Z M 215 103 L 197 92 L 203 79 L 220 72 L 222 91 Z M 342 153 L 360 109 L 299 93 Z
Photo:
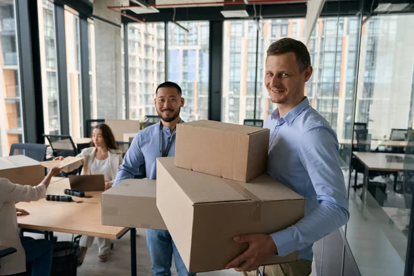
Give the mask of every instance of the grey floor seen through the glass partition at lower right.
M 383 206 L 361 189 L 350 190 L 351 217 L 346 225 L 346 239 L 361 275 L 404 275 L 407 237 L 404 229 L 409 221 L 404 195 L 393 190 L 393 178 L 376 177 L 373 181 L 387 184 Z M 358 176 L 362 183 L 362 174 Z M 351 177 L 353 183 L 353 175 Z

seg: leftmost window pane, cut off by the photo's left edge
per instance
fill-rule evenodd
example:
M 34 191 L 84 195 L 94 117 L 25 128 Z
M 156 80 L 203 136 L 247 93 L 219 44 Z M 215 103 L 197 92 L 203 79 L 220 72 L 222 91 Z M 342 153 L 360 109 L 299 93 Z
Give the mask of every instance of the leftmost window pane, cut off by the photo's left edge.
M 0 156 L 8 155 L 10 146 L 21 143 L 21 90 L 17 58 L 16 22 L 13 1 L 0 2 Z

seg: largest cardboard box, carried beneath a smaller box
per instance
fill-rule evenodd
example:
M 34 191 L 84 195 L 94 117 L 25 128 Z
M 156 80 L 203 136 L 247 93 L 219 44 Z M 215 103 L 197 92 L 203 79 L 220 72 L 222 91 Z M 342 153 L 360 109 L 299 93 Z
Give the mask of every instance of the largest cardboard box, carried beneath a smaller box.
M 304 217 L 305 199 L 268 175 L 249 183 L 174 166 L 157 159 L 157 208 L 190 273 L 221 270 L 242 254 L 242 234 L 271 234 Z M 266 264 L 295 262 L 297 252 Z

